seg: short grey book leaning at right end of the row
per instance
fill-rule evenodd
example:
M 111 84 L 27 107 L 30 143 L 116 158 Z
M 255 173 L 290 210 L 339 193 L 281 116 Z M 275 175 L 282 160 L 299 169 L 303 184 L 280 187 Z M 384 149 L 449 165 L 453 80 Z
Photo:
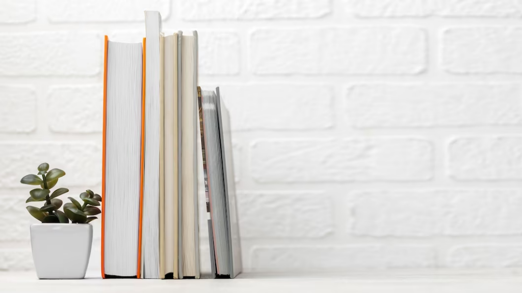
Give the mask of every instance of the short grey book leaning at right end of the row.
M 216 92 L 203 91 L 198 102 L 210 216 L 210 269 L 215 276 L 234 278 L 241 272 L 242 263 L 228 111 L 220 99 L 219 88 Z

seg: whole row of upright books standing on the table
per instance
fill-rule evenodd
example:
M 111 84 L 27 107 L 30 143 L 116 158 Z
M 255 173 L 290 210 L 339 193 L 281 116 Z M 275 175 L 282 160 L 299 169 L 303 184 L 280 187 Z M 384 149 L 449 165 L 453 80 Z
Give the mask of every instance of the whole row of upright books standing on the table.
M 105 36 L 102 277 L 233 278 L 227 108 L 219 88 L 198 87 L 197 32 L 165 36 L 157 11 L 145 22 L 143 43 Z

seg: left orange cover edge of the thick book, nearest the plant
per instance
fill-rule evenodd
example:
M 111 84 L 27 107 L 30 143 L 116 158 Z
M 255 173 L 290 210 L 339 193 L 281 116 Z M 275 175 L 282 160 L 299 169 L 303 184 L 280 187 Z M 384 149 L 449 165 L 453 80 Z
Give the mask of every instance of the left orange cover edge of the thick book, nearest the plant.
M 109 37 L 105 35 L 105 56 L 103 58 L 103 151 L 101 169 L 101 277 L 105 278 L 105 136 L 107 130 L 107 55 L 109 53 Z

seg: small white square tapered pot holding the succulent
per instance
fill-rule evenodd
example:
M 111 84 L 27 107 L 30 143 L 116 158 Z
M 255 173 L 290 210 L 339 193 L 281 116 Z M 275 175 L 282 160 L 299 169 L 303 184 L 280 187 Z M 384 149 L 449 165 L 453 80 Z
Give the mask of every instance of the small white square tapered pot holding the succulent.
M 91 224 L 32 224 L 31 248 L 40 279 L 82 279 L 92 246 Z

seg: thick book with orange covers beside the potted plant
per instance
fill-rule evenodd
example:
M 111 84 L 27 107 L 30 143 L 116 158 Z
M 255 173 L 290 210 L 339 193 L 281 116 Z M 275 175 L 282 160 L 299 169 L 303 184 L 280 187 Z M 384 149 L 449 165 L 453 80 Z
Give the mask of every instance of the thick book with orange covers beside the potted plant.
M 143 50 L 105 36 L 101 271 L 136 278 L 143 133 Z

